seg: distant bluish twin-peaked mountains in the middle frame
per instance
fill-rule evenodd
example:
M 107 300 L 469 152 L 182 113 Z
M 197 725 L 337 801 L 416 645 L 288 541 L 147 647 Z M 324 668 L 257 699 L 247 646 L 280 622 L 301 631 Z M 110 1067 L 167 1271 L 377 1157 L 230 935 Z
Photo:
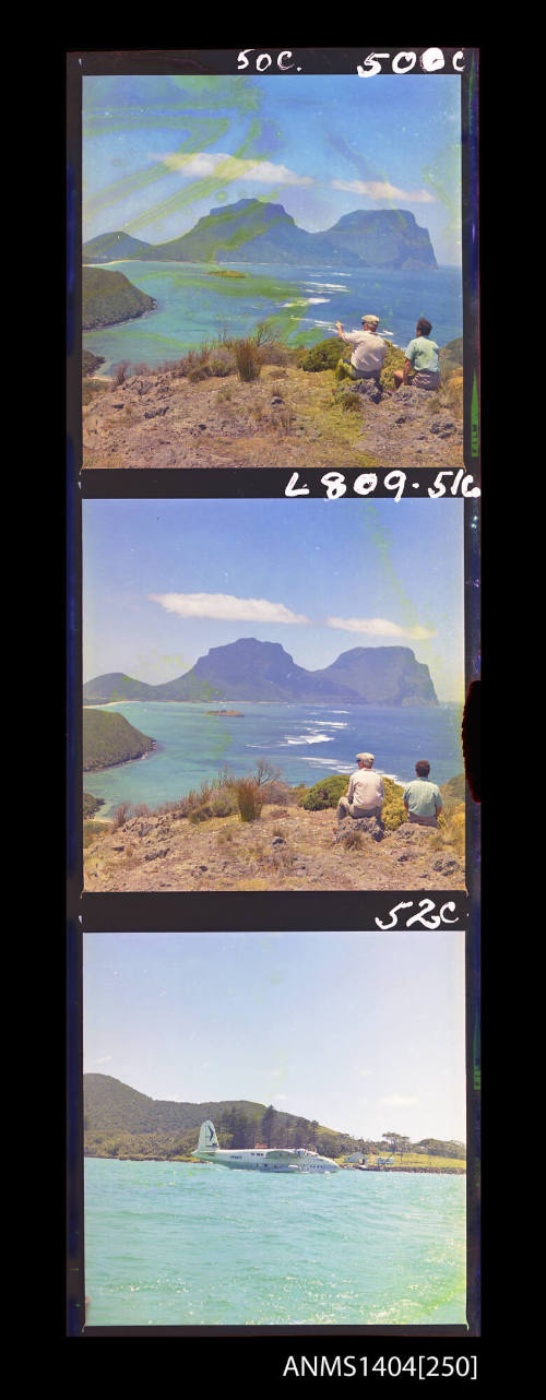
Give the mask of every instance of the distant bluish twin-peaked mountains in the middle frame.
M 123 672 L 87 680 L 84 704 L 119 700 L 272 700 L 304 704 L 437 706 L 428 666 L 410 647 L 353 647 L 330 666 L 305 671 L 280 643 L 242 637 L 211 647 L 182 676 L 147 685 Z

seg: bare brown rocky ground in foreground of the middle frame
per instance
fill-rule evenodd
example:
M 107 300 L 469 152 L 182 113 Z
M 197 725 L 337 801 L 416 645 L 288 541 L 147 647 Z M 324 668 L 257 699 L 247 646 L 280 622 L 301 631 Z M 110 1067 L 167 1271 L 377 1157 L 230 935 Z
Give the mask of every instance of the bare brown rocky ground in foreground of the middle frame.
M 335 809 L 265 806 L 192 825 L 178 813 L 130 818 L 84 853 L 85 890 L 465 889 L 440 830 L 403 823 L 382 841 L 335 843 Z

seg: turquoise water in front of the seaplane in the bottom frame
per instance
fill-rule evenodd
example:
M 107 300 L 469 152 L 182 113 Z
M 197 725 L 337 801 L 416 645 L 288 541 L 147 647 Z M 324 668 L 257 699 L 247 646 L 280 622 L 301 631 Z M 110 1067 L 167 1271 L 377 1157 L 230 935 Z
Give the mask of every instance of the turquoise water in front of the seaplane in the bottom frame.
M 465 1176 L 87 1159 L 88 1323 L 463 1323 L 465 1193 Z

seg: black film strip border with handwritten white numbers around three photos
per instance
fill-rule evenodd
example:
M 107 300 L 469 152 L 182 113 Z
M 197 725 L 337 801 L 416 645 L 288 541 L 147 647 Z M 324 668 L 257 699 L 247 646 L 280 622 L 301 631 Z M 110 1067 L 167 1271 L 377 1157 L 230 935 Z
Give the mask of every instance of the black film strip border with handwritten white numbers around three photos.
M 269 62 L 266 62 L 269 59 Z M 223 78 L 249 77 L 256 81 L 276 84 L 280 92 L 288 83 L 297 81 L 297 74 L 316 78 L 336 76 L 357 76 L 363 87 L 391 76 L 400 87 L 412 76 L 420 84 L 441 84 L 445 77 L 458 76 L 461 83 L 461 162 L 462 162 L 462 315 L 463 315 L 463 435 L 462 469 L 431 472 L 417 463 L 407 470 L 396 465 L 374 466 L 363 493 L 363 473 L 357 466 L 347 466 L 339 482 L 325 482 L 325 470 L 314 468 L 312 459 L 304 472 L 290 466 L 260 468 L 245 466 L 245 470 L 230 465 L 203 468 L 140 468 L 132 470 L 129 462 L 123 468 L 92 470 L 84 466 L 81 431 L 81 91 L 85 77 L 101 76 L 161 76 L 178 74 L 188 77 Z M 480 1081 L 479 1081 L 479 1026 L 480 1026 L 480 937 L 479 937 L 479 750 L 476 746 L 476 715 L 479 711 L 479 584 L 480 584 L 480 360 L 479 360 L 479 52 L 473 48 L 398 48 L 371 49 L 195 49 L 195 50 L 123 50 L 123 52 L 74 52 L 67 55 L 67 398 L 69 398 L 69 451 L 67 451 L 67 504 L 69 504 L 69 860 L 67 860 L 67 962 L 69 962 L 69 1288 L 67 1288 L 67 1334 L 90 1337 L 98 1334 L 158 1334 L 186 1337 L 195 1354 L 199 1341 L 206 1336 L 207 1348 L 214 1345 L 221 1352 L 225 1365 L 227 1338 L 237 1348 L 245 1343 L 245 1364 L 249 1359 L 248 1345 L 256 1351 L 256 1358 L 272 1355 L 283 1376 L 287 1358 L 297 1350 L 333 1358 L 365 1351 L 368 1362 L 384 1357 L 410 1358 L 417 1354 L 434 1354 L 469 1358 L 470 1371 L 477 1365 L 480 1352 L 480 1201 L 479 1201 L 479 1141 L 480 1141 Z M 281 454 L 280 454 L 281 458 Z M 393 480 L 393 475 L 395 480 Z M 360 893 L 326 892 L 312 895 L 267 893 L 167 893 L 150 895 L 90 895 L 83 890 L 81 878 L 81 503 L 83 500 L 140 500 L 167 498 L 199 500 L 238 498 L 245 500 L 336 500 L 336 491 L 358 497 L 370 491 L 371 498 L 428 498 L 435 500 L 435 508 L 442 510 L 442 501 L 459 498 L 465 518 L 465 727 L 463 748 L 466 764 L 466 886 L 452 895 L 445 890 L 427 890 L 426 902 L 413 890 L 403 888 L 396 892 L 368 890 Z M 294 510 L 298 507 L 294 505 Z M 330 507 L 336 510 L 333 504 Z M 447 904 L 449 907 L 447 909 Z M 393 910 L 396 913 L 393 914 Z M 466 963 L 466 1102 L 468 1102 L 468 1324 L 465 1329 L 381 1329 L 372 1327 L 298 1327 L 297 1337 L 280 1336 L 277 1329 L 101 1329 L 85 1326 L 84 1322 L 84 1259 L 81 1246 L 83 1225 L 83 1105 L 81 1105 L 81 955 L 83 935 L 123 931 L 192 931 L 214 934 L 218 930 L 253 931 L 270 930 L 325 930 L 343 928 L 360 931 L 363 937 L 378 928 L 409 928 L 413 918 L 426 920 L 431 930 L 444 927 L 461 932 L 465 939 Z M 349 1336 L 347 1336 L 349 1334 Z M 363 1345 L 356 1344 L 353 1334 L 363 1334 Z M 410 1334 L 410 1336 L 407 1336 Z M 414 1336 L 413 1336 L 414 1334 Z M 319 1338 L 323 1338 L 322 1341 Z M 423 1337 L 426 1347 L 423 1345 Z M 351 1340 L 353 1338 L 353 1340 Z M 364 1344 L 365 1343 L 365 1344 Z M 220 1350 L 218 1350 L 220 1348 Z M 237 1352 L 239 1355 L 239 1351 Z M 230 1364 L 235 1354 L 231 1351 Z M 319 1372 L 321 1373 L 321 1372 Z M 326 1371 L 329 1373 L 328 1362 Z M 343 1373 L 343 1372 L 340 1372 Z M 393 1372 L 389 1371 L 389 1375 Z M 445 1372 L 442 1372 L 445 1373 Z M 455 1371 L 463 1378 L 463 1368 Z

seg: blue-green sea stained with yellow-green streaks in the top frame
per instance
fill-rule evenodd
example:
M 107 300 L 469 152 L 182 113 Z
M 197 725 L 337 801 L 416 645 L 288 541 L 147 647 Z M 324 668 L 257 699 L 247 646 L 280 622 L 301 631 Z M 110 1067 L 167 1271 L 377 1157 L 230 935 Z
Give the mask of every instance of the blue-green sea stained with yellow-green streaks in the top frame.
M 130 260 L 108 266 L 154 297 L 157 309 L 84 335 L 84 349 L 105 358 L 101 374 L 123 360 L 154 368 L 223 332 L 249 335 L 262 321 L 288 343 L 323 340 L 335 332 L 336 321 L 346 330 L 361 329 L 364 312 L 378 315 L 379 335 L 402 347 L 414 336 L 419 316 L 433 322 L 438 344 L 462 335 L 459 267 L 344 272 L 232 262 L 230 267 L 245 276 L 230 279 L 211 276 L 209 263 Z

